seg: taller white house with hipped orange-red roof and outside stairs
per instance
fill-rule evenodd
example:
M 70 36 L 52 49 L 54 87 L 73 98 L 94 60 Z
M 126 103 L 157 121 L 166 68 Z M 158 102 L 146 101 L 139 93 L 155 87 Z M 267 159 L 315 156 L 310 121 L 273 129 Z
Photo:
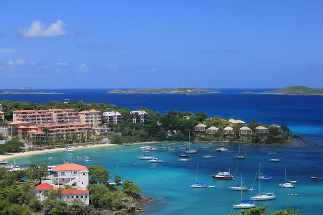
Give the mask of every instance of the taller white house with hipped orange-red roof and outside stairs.
M 89 171 L 85 166 L 78 164 L 62 164 L 51 168 L 53 173 L 52 184 L 86 187 L 89 185 Z

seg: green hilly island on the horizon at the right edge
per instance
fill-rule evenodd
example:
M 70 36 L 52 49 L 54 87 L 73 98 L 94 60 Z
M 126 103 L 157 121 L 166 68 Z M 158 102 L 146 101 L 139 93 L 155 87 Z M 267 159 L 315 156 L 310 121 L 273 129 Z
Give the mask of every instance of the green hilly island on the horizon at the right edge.
M 245 91 L 241 93 L 252 94 L 255 92 Z M 264 94 L 264 93 L 273 93 L 273 94 L 279 94 L 279 95 L 323 95 L 323 88 L 311 89 L 305 86 L 294 86 L 294 87 L 286 87 L 278 90 L 264 91 L 256 94 Z

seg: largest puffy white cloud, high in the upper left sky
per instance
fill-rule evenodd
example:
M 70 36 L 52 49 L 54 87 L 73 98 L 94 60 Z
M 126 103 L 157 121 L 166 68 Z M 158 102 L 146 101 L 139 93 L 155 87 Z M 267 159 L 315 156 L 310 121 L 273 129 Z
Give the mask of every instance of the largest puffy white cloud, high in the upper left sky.
M 67 35 L 67 31 L 63 29 L 67 25 L 61 20 L 51 23 L 47 28 L 41 21 L 33 21 L 29 28 L 18 28 L 18 33 L 23 37 L 55 37 Z

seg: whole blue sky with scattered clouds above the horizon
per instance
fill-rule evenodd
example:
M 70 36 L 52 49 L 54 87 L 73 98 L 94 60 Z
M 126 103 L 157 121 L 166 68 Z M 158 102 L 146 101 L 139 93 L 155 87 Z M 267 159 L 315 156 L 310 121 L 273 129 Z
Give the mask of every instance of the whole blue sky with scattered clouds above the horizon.
M 323 87 L 321 0 L 0 1 L 0 89 Z

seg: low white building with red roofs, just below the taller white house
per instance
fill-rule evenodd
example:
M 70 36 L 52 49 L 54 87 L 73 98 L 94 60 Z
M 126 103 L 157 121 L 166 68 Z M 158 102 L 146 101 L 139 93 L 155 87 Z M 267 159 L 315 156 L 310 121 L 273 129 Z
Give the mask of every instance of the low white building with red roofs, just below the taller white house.
M 39 197 L 41 201 L 45 200 L 46 197 L 44 196 L 44 192 L 46 190 L 52 190 L 55 189 L 53 185 L 42 183 L 35 187 L 35 193 L 36 196 Z M 78 200 L 81 201 L 83 204 L 89 204 L 90 203 L 90 191 L 88 189 L 84 190 L 56 190 L 56 192 L 60 192 L 58 199 L 61 201 L 65 201 L 68 204 L 73 204 L 74 201 Z

